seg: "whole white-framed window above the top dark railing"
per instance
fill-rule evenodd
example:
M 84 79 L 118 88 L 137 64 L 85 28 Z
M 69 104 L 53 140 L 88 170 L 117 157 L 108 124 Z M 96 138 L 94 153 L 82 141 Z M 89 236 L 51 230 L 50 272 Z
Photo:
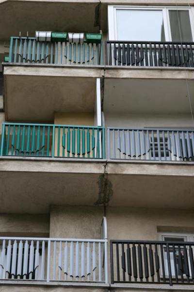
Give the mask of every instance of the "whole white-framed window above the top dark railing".
M 192 42 L 194 39 L 192 13 L 192 8 L 185 7 L 147 8 L 110 5 L 109 39 Z

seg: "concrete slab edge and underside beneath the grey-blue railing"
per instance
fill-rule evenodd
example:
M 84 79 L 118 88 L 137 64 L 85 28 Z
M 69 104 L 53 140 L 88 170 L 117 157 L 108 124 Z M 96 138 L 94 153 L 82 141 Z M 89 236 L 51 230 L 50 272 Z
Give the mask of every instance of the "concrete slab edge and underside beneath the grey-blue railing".
M 194 164 L 108 163 L 108 177 L 113 188 L 109 205 L 193 208 Z

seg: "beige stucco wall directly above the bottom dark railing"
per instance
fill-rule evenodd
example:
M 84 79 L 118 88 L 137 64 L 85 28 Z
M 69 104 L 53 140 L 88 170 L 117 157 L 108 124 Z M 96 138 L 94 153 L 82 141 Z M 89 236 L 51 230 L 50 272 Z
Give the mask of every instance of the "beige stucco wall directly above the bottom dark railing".
M 158 240 L 158 232 L 194 233 L 194 211 L 107 207 L 109 239 Z

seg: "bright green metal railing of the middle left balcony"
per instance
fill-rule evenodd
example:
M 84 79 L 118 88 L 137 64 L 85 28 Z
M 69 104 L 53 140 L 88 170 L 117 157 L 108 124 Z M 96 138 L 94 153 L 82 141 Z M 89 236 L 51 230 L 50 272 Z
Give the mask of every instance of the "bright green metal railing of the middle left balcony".
M 1 156 L 105 158 L 103 127 L 3 123 Z

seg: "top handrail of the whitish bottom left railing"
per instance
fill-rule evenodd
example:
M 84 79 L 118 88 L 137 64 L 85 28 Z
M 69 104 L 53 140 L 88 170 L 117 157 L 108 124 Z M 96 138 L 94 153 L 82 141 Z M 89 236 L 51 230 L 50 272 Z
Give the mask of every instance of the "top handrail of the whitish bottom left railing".
M 107 242 L 107 239 L 55 238 L 55 237 L 0 237 L 0 240 L 34 240 L 62 242 Z

